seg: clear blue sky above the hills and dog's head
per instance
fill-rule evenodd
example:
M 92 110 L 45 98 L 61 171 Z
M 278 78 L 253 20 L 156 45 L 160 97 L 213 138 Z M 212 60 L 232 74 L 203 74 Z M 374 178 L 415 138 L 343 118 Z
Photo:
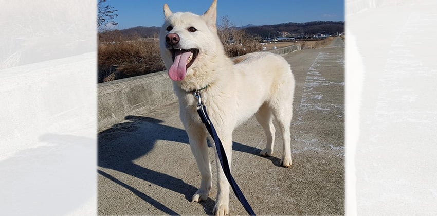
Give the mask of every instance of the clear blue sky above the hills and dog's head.
M 117 29 L 135 26 L 161 26 L 162 6 L 167 3 L 173 12 L 189 11 L 203 14 L 212 0 L 107 0 L 117 9 Z M 217 20 L 228 15 L 236 26 L 280 24 L 308 21 L 344 21 L 343 0 L 218 0 Z

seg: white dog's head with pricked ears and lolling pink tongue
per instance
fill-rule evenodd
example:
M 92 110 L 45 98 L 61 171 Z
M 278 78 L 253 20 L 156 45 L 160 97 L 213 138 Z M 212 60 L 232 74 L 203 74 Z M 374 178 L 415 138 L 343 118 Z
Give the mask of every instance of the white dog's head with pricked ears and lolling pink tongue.
M 199 60 L 216 56 L 216 43 L 220 43 L 215 25 L 216 5 L 214 0 L 202 16 L 190 12 L 173 13 L 167 4 L 164 5 L 165 22 L 159 33 L 159 43 L 170 79 L 181 81 L 201 66 Z

